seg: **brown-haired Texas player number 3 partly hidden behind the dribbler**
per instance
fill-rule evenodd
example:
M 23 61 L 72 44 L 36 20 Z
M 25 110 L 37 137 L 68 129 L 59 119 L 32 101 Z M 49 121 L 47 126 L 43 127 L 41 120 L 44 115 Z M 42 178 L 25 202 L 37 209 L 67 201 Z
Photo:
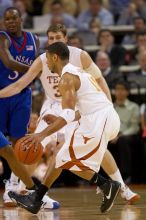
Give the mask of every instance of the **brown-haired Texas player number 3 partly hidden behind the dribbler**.
M 50 26 L 47 31 L 47 35 L 49 45 L 57 41 L 67 43 L 67 31 L 64 25 L 57 24 Z M 98 85 L 105 92 L 108 99 L 111 100 L 109 88 L 103 76 L 101 75 L 99 68 L 94 64 L 88 53 L 75 47 L 69 46 L 68 48 L 70 51 L 70 63 L 90 73 L 96 79 Z M 25 74 L 25 76 L 23 76 L 19 81 L 17 81 L 17 83 L 14 83 L 10 87 L 0 91 L 0 97 L 7 97 L 13 94 L 17 94 L 30 82 L 32 82 L 34 78 L 36 78 L 37 76 L 40 77 L 41 83 L 45 91 L 46 100 L 41 109 L 40 121 L 36 129 L 36 132 L 40 132 L 48 126 L 47 123 L 45 123 L 44 120 L 42 120 L 45 115 L 54 114 L 58 116 L 61 111 L 61 99 L 58 91 L 58 83 L 60 78 L 56 73 L 52 73 L 48 69 L 46 61 L 46 53 L 43 53 L 35 60 L 35 62 L 31 66 L 29 71 Z M 40 72 L 42 73 L 40 74 Z M 45 138 L 42 141 L 42 144 L 45 146 L 51 141 L 51 138 L 51 136 Z M 127 187 L 124 184 L 120 171 L 115 163 L 115 160 L 108 150 L 106 150 L 101 166 L 104 169 L 104 171 L 111 177 L 111 179 L 119 181 L 121 183 L 121 196 L 123 199 L 125 199 L 129 204 L 139 200 L 139 195 L 132 192 L 129 189 L 129 187 Z

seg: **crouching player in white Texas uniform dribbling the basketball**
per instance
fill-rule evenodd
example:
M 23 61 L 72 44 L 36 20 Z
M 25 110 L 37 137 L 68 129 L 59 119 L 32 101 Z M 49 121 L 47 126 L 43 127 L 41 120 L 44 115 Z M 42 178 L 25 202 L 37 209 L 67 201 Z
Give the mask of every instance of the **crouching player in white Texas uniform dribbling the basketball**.
M 109 211 L 121 184 L 106 180 L 98 174 L 98 171 L 108 141 L 115 138 L 119 132 L 119 116 L 95 79 L 69 63 L 70 52 L 66 44 L 63 42 L 51 44 L 46 54 L 49 69 L 61 77 L 59 91 L 62 95 L 62 110 L 51 125 L 40 133 L 26 136 L 23 143 L 30 147 L 32 143 L 37 146 L 45 137 L 66 125 L 65 142 L 56 155 L 56 166 L 49 175 L 46 175 L 44 184 L 40 184 L 28 195 L 20 195 L 13 191 L 8 194 L 18 205 L 36 214 L 40 210 L 44 194 L 62 170 L 67 169 L 96 183 L 103 192 L 100 210 Z M 74 122 L 78 118 L 80 119 Z

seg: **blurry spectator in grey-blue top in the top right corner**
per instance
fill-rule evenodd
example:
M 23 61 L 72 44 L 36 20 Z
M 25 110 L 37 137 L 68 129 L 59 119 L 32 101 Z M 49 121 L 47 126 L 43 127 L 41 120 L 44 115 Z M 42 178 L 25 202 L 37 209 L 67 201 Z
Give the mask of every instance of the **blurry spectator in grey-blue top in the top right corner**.
M 138 17 L 136 5 L 132 2 L 123 9 L 117 21 L 117 25 L 132 25 L 134 18 Z

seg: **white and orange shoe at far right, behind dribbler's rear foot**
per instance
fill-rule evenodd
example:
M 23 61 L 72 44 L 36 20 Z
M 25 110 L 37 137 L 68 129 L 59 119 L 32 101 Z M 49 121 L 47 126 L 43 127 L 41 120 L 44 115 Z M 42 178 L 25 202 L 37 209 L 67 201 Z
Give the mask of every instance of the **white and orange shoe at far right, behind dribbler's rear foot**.
M 132 205 L 140 199 L 140 195 L 132 192 L 130 188 L 126 185 L 125 187 L 121 188 L 120 194 L 121 194 L 121 197 L 127 201 L 128 205 Z

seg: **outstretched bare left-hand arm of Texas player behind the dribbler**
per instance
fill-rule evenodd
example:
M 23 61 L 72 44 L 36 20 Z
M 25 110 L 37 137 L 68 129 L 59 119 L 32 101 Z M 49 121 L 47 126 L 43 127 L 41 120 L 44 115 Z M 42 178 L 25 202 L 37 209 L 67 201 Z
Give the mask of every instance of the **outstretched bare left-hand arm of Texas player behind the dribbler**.
M 29 70 L 15 83 L 0 90 L 0 98 L 10 97 L 20 93 L 26 86 L 28 86 L 41 72 L 42 62 L 38 57 Z

